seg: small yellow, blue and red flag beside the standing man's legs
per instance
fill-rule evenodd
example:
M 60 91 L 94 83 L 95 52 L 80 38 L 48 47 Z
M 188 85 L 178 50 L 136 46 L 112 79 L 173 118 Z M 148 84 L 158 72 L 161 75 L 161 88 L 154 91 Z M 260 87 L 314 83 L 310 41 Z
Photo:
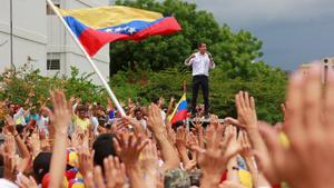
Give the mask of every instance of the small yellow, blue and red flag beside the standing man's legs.
M 188 112 L 187 97 L 186 93 L 184 93 L 180 100 L 178 101 L 176 108 L 174 109 L 173 113 L 170 115 L 169 120 L 171 125 L 174 125 L 177 121 L 187 119 L 187 112 Z

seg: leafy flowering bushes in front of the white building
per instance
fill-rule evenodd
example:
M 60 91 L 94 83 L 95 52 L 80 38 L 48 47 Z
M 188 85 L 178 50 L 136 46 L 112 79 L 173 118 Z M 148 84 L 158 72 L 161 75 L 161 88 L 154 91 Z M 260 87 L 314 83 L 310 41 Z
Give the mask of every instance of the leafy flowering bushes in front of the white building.
M 43 77 L 40 71 L 24 65 L 18 70 L 7 70 L 0 75 L 0 101 L 8 100 L 17 105 L 39 108 L 50 105 L 49 91 L 63 89 L 68 97 L 81 98 L 85 101 L 106 102 L 104 88 L 92 83 L 92 73 L 79 75 L 71 67 L 70 77 Z M 27 100 L 29 99 L 29 100 Z

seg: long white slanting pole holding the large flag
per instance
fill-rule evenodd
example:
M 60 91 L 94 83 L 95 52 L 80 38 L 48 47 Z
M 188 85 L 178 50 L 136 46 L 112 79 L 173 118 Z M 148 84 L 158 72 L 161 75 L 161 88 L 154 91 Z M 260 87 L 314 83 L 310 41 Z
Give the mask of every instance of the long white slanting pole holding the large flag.
M 67 31 L 70 33 L 70 36 L 72 37 L 72 39 L 75 40 L 75 42 L 77 43 L 77 46 L 80 48 L 80 50 L 84 52 L 85 57 L 87 58 L 88 62 L 90 63 L 90 66 L 92 67 L 92 69 L 95 70 L 95 72 L 97 73 L 97 76 L 99 77 L 99 79 L 101 80 L 104 87 L 107 89 L 107 92 L 109 95 L 109 97 L 111 98 L 111 100 L 114 101 L 116 108 L 118 109 L 118 111 L 120 112 L 121 116 L 126 116 L 124 109 L 121 108 L 119 101 L 117 100 L 116 96 L 114 95 L 112 90 L 110 89 L 108 82 L 106 81 L 106 79 L 104 78 L 104 76 L 101 75 L 101 72 L 99 71 L 99 69 L 97 68 L 97 66 L 94 63 L 91 57 L 88 55 L 88 52 L 86 51 L 86 49 L 82 47 L 82 44 L 80 43 L 80 41 L 78 40 L 78 38 L 76 37 L 76 34 L 72 32 L 72 30 L 70 29 L 70 27 L 67 24 L 67 22 L 63 20 L 62 16 L 60 14 L 60 12 L 58 11 L 58 9 L 56 8 L 56 6 L 53 4 L 53 2 L 51 0 L 47 0 L 47 3 L 50 6 L 50 8 L 53 10 L 53 12 L 57 14 L 57 17 L 59 18 L 59 20 L 61 21 L 61 23 L 65 26 L 65 28 L 67 29 Z

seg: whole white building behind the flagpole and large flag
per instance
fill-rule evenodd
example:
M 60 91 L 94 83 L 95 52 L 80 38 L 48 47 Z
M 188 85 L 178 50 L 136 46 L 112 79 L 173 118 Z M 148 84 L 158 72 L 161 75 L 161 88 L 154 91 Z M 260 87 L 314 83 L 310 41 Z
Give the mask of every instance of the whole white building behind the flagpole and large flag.
M 78 9 L 109 4 L 109 0 L 52 0 L 61 9 Z M 46 76 L 56 72 L 69 76 L 70 67 L 92 72 L 89 62 L 65 30 L 46 0 L 12 0 L 13 62 L 20 67 L 31 61 Z M 101 73 L 109 76 L 109 47 L 94 58 Z M 10 0 L 0 6 L 0 72 L 10 67 Z M 92 78 L 99 83 L 98 78 Z

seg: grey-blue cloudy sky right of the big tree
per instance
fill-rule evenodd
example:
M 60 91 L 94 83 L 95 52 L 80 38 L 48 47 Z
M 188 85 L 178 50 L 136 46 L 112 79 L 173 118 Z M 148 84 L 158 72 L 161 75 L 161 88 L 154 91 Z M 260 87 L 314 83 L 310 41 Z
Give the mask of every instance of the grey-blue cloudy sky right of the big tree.
M 263 60 L 295 70 L 334 57 L 333 0 L 186 0 L 213 12 L 234 31 L 245 29 L 264 42 Z

